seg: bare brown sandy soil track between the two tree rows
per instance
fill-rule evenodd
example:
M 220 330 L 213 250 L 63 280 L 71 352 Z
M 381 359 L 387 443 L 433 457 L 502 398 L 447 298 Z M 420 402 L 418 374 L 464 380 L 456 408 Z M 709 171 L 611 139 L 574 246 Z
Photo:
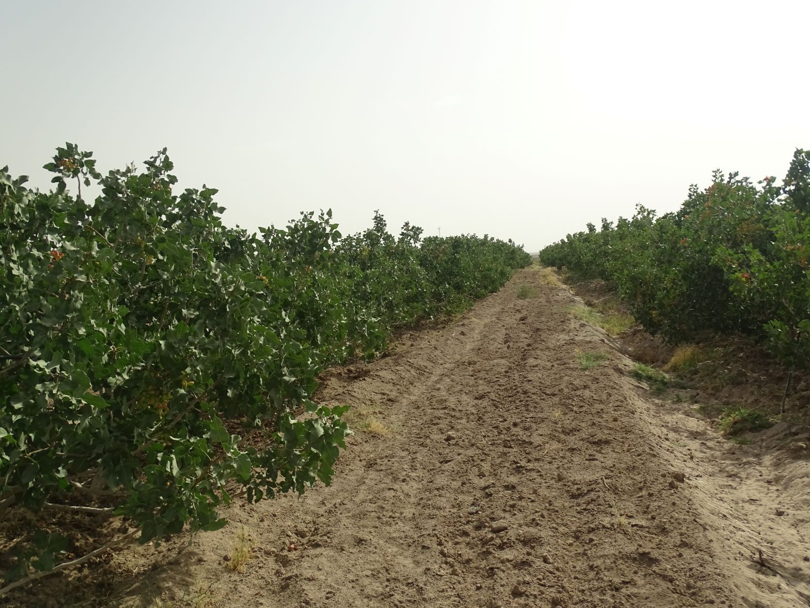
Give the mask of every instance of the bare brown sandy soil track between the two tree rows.
M 690 406 L 652 398 L 612 340 L 569 315 L 569 289 L 539 276 L 518 272 L 389 357 L 330 370 L 318 400 L 360 405 L 358 425 L 377 430 L 351 439 L 332 486 L 233 507 L 228 528 L 190 543 L 115 555 L 118 572 L 160 564 L 123 596 L 810 606 L 803 438 L 782 451 L 737 446 Z M 518 299 L 527 283 L 537 292 Z M 578 358 L 595 352 L 606 360 L 583 369 Z M 242 525 L 253 555 L 229 572 Z

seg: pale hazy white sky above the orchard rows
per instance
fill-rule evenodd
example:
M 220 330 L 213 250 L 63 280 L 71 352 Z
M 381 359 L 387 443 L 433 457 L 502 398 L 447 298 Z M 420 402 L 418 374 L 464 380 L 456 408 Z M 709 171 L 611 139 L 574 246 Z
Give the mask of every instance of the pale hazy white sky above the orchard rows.
M 230 225 L 331 207 L 537 250 L 810 147 L 810 2 L 4 0 L 0 165 L 168 147 Z

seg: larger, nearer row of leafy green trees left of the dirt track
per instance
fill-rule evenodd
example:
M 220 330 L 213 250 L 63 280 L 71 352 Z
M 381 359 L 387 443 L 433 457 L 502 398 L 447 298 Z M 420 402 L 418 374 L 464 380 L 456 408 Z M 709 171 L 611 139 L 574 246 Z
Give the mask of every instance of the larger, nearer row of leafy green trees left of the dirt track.
M 331 212 L 228 228 L 215 190 L 176 192 L 165 150 L 102 176 L 67 144 L 45 168 L 47 193 L 0 172 L 0 512 L 91 505 L 141 542 L 220 528 L 232 490 L 330 482 L 347 426 L 344 407 L 309 399 L 323 367 L 373 358 L 394 328 L 462 310 L 531 262 L 486 236 L 394 237 L 379 214 L 347 236 Z M 6 582 L 70 544 L 28 541 Z

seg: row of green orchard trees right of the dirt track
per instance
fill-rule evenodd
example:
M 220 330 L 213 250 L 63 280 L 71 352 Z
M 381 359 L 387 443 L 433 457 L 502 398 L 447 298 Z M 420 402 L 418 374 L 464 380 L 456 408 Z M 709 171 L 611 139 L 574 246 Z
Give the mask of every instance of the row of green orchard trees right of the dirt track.
M 810 152 L 757 184 L 714 172 L 677 212 L 569 234 L 540 259 L 615 285 L 633 316 L 671 342 L 757 336 L 791 369 L 810 362 Z

